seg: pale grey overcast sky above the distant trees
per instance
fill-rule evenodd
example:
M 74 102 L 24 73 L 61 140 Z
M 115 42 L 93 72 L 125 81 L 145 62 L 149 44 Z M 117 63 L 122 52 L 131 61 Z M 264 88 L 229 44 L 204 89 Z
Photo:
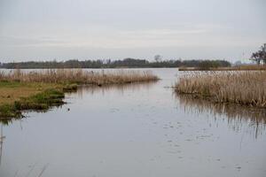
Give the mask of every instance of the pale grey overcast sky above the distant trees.
M 248 58 L 265 0 L 0 0 L 0 62 Z

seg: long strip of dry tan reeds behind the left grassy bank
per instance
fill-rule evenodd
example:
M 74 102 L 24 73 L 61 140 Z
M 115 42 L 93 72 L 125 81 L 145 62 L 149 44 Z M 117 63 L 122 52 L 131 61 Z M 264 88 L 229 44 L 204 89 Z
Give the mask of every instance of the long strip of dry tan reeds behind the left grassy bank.
M 157 81 L 158 77 L 149 71 L 116 71 L 99 72 L 82 69 L 50 69 L 41 72 L 0 73 L 0 81 L 45 82 L 45 83 L 77 83 L 77 84 L 122 84 L 143 81 Z

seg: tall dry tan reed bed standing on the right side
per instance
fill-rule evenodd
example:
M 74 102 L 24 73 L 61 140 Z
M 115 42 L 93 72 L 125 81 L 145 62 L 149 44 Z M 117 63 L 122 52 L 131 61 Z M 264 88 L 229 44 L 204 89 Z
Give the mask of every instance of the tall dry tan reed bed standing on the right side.
M 266 108 L 266 72 L 188 73 L 179 78 L 176 92 L 219 103 Z

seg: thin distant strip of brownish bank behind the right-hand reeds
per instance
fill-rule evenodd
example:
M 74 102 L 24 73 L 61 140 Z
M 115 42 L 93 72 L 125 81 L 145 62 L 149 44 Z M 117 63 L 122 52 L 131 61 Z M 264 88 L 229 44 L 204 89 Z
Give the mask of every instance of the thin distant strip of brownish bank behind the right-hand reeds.
M 179 67 L 179 71 L 262 71 L 265 65 L 239 65 L 231 67 Z

